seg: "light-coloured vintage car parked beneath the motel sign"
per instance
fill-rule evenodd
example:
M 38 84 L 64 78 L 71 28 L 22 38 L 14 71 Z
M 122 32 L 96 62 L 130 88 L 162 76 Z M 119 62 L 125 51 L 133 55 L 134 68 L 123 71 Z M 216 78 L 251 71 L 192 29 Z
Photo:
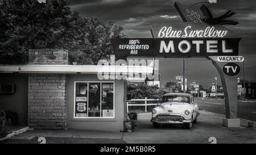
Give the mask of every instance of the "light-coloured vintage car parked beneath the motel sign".
M 163 95 L 159 106 L 152 109 L 153 127 L 160 124 L 183 124 L 187 128 L 192 128 L 192 123 L 196 123 L 199 116 L 199 106 L 191 94 L 187 93 L 167 93 Z

